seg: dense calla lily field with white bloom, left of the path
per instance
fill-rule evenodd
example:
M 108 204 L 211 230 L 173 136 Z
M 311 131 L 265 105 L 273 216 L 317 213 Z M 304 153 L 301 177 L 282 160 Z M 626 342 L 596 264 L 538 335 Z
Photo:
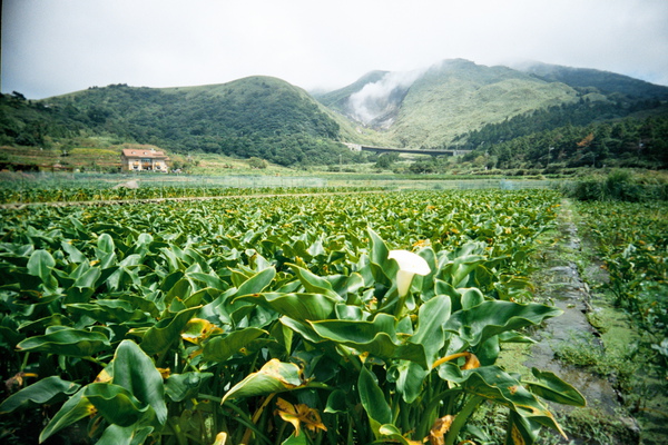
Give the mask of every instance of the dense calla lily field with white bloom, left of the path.
M 495 365 L 560 310 L 527 258 L 551 191 L 247 197 L 2 212 L 3 439 L 508 444 L 581 406 Z M 0 421 L 2 422 L 2 421 Z M 18 427 L 21 425 L 21 427 Z M 37 426 L 39 425 L 39 426 Z M 37 427 L 36 427 L 37 426 Z M 76 431 L 76 429 L 75 429 Z

